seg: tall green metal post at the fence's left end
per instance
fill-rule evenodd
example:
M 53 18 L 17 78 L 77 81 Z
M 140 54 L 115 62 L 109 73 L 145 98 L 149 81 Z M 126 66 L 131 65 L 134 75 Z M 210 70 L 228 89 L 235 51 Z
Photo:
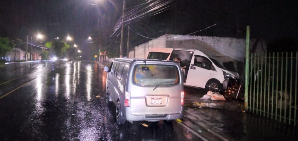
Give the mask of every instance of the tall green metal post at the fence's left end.
M 248 70 L 249 70 L 249 26 L 246 27 L 246 55 L 245 55 L 245 92 L 244 92 L 244 108 L 248 110 Z

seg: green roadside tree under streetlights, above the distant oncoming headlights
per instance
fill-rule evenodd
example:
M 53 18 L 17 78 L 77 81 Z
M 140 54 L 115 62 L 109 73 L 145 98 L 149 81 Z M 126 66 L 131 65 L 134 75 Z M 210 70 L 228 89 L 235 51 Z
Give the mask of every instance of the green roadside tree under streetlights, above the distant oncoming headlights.
M 54 41 L 54 42 L 47 42 L 46 47 L 53 49 L 56 57 L 63 58 L 63 54 L 70 46 L 66 42 Z

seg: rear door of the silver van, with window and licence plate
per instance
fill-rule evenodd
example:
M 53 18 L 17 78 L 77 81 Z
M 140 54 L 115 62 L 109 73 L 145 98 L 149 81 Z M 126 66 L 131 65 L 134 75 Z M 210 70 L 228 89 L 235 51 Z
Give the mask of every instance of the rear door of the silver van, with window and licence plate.
M 145 67 L 143 64 L 135 66 L 133 85 L 129 88 L 132 115 L 181 112 L 181 92 L 183 92 L 181 70 L 177 63 L 171 64 L 148 64 L 146 67 L 149 68 L 149 72 L 142 71 L 142 67 Z

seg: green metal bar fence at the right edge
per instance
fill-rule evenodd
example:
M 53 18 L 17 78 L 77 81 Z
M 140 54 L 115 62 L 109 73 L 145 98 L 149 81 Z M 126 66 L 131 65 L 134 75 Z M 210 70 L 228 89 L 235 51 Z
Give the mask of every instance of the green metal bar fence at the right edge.
M 250 54 L 247 110 L 295 126 L 297 68 L 298 52 Z

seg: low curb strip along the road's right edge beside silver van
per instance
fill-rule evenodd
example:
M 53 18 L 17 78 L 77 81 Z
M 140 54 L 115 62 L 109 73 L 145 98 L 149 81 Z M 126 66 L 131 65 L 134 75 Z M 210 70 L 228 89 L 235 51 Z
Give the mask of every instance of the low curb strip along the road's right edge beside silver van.
M 215 132 L 214 128 L 212 126 L 204 124 L 204 121 L 201 121 L 199 119 L 198 119 L 198 121 L 195 121 L 195 120 L 188 117 L 189 115 L 197 117 L 196 115 L 194 115 L 192 113 L 189 113 L 188 111 L 184 111 L 184 115 L 185 115 L 184 118 L 186 118 L 187 120 L 193 122 L 194 124 L 204 128 L 205 130 L 207 130 L 211 134 L 217 136 L 218 138 L 222 139 L 223 141 L 235 141 L 231 137 L 223 136 L 223 135 L 220 135 L 219 133 Z M 197 117 L 197 118 L 199 118 L 199 117 Z

